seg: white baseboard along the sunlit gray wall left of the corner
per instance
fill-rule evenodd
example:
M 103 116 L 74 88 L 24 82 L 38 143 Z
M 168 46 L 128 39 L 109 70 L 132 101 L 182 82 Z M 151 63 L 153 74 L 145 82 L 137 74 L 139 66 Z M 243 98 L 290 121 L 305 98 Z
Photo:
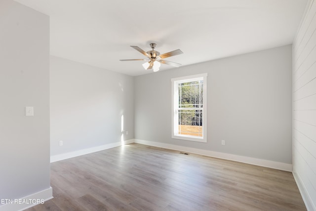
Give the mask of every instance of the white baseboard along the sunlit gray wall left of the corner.
M 91 147 L 91 148 L 77 150 L 77 151 L 68 152 L 68 153 L 63 153 L 63 154 L 59 154 L 59 155 L 53 155 L 53 156 L 50 156 L 50 163 L 62 161 L 62 160 L 66 160 L 69 158 L 74 158 L 74 157 L 78 157 L 81 155 L 86 155 L 89 153 L 98 152 L 98 151 L 102 151 L 102 150 L 106 150 L 106 149 L 110 149 L 110 148 L 114 148 L 114 147 L 118 147 L 118 146 L 121 146 L 124 144 L 130 144 L 130 143 L 134 143 L 134 139 L 125 140 L 123 144 L 121 143 L 121 141 L 119 141 L 119 142 L 105 144 L 105 145 L 101 145 L 101 146 L 97 146 L 97 147 Z

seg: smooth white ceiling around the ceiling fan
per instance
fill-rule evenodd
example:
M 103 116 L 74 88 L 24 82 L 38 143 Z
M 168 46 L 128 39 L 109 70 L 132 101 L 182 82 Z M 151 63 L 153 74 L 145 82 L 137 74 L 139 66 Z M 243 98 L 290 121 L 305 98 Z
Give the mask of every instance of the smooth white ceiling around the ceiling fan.
M 16 0 L 50 16 L 50 54 L 131 76 L 152 73 L 131 48 L 190 65 L 293 42 L 307 0 Z M 161 65 L 160 71 L 174 68 Z

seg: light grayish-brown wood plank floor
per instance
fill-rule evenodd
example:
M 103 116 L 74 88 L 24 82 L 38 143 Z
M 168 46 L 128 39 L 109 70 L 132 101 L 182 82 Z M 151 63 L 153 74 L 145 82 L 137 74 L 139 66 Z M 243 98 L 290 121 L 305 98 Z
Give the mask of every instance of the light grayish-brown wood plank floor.
M 51 164 L 27 211 L 305 211 L 292 173 L 141 144 Z

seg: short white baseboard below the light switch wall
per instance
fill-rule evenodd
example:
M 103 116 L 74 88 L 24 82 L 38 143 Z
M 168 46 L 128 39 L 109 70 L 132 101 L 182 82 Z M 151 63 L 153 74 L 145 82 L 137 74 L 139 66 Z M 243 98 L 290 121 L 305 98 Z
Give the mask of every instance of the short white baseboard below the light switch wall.
M 0 206 L 0 211 L 23 211 L 53 198 L 52 187 Z M 34 202 L 34 203 L 33 203 Z M 37 202 L 37 203 L 36 203 Z

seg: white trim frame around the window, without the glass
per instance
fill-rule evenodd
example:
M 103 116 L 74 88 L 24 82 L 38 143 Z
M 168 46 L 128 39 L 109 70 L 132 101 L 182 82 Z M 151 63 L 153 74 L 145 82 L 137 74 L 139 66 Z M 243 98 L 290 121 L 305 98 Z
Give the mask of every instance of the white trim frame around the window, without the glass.
M 190 82 L 190 81 L 197 81 L 200 79 L 203 79 L 203 123 L 202 123 L 202 131 L 203 131 L 203 137 L 193 137 L 191 135 L 179 135 L 178 134 L 178 113 L 177 113 L 177 105 L 178 105 L 178 98 L 176 98 L 175 96 L 178 96 L 178 92 L 177 92 L 177 84 L 181 83 L 181 82 Z M 207 73 L 204 74 L 198 74 L 198 75 L 193 75 L 193 76 L 185 76 L 185 77 L 180 77 L 180 78 L 174 78 L 171 79 L 171 106 L 172 106 L 172 129 L 171 129 L 171 137 L 175 138 L 175 139 L 182 139 L 182 140 L 188 140 L 188 141 L 198 141 L 198 142 L 207 142 Z

